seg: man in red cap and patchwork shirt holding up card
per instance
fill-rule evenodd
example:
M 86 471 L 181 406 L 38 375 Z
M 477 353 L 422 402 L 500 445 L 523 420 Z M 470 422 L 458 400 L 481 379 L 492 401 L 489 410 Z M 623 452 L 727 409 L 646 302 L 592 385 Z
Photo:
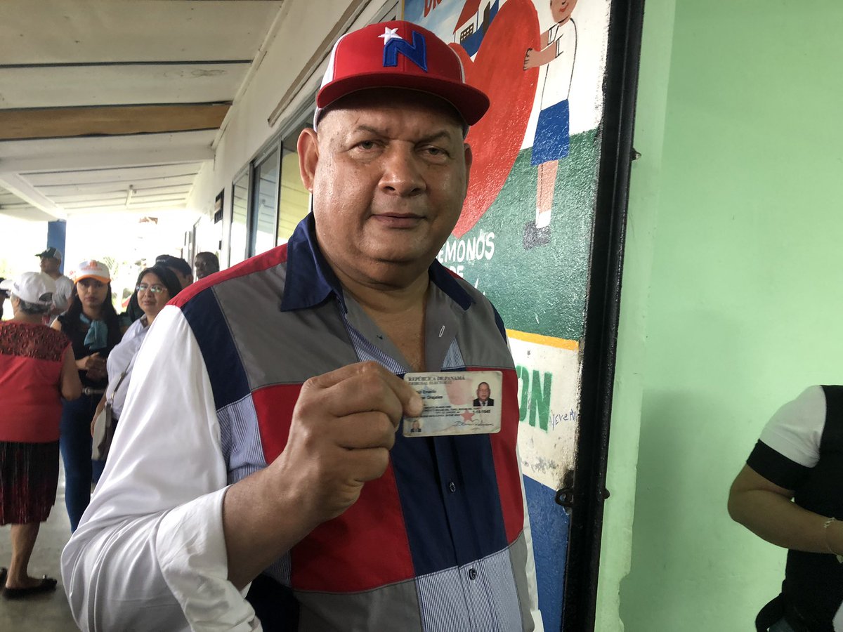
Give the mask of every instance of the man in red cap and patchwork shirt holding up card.
M 541 629 L 505 330 L 436 260 L 488 99 L 396 21 L 336 43 L 316 104 L 313 212 L 185 288 L 137 356 L 62 555 L 82 629 Z M 436 407 L 402 377 L 466 371 L 500 373 L 496 431 L 411 433 Z

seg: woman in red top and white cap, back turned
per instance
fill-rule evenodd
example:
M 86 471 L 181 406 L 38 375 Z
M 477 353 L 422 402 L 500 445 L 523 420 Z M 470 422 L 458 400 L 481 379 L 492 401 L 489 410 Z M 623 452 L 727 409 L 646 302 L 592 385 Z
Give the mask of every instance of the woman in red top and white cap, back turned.
M 58 485 L 62 401 L 82 394 L 70 340 L 42 324 L 56 283 L 40 272 L 3 281 L 14 318 L 0 323 L 0 525 L 12 525 L 12 563 L 0 570 L 3 597 L 55 590 L 56 580 L 30 577 L 40 523 Z

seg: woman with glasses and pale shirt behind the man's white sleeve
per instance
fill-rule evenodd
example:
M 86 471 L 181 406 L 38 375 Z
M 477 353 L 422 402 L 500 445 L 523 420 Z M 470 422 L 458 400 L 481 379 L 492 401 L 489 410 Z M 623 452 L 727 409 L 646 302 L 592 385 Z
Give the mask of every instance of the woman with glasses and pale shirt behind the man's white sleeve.
M 108 388 L 105 389 L 105 394 L 100 399 L 94 418 L 91 420 L 92 435 L 94 420 L 103 410 L 106 402 L 111 405 L 113 418 L 115 420 L 120 418 L 123 404 L 126 402 L 129 378 L 132 376 L 132 367 L 135 366 L 137 350 L 141 348 L 141 343 L 146 338 L 149 325 L 153 324 L 153 320 L 164 309 L 164 305 L 181 291 L 181 284 L 173 270 L 156 264 L 141 271 L 141 274 L 137 276 L 136 289 L 137 303 L 143 315 L 132 323 L 129 329 L 126 329 L 123 340 L 108 356 Z

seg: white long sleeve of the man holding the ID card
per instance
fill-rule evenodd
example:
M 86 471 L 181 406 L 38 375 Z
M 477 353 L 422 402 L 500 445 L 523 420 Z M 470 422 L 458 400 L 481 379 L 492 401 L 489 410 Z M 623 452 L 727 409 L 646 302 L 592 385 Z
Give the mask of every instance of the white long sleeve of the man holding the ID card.
M 105 472 L 62 553 L 73 617 L 98 632 L 260 630 L 228 581 L 227 472 L 201 351 L 178 308 L 154 325 Z M 188 376 L 191 388 L 175 387 Z

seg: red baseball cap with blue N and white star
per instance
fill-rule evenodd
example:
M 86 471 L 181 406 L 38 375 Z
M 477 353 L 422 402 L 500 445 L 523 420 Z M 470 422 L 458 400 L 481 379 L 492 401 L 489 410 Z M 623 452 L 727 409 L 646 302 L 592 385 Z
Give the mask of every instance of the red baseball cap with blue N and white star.
M 314 127 L 326 107 L 366 88 L 433 94 L 454 105 L 468 125 L 489 109 L 489 97 L 465 83 L 457 53 L 431 31 L 403 20 L 369 24 L 336 40 L 316 94 Z

